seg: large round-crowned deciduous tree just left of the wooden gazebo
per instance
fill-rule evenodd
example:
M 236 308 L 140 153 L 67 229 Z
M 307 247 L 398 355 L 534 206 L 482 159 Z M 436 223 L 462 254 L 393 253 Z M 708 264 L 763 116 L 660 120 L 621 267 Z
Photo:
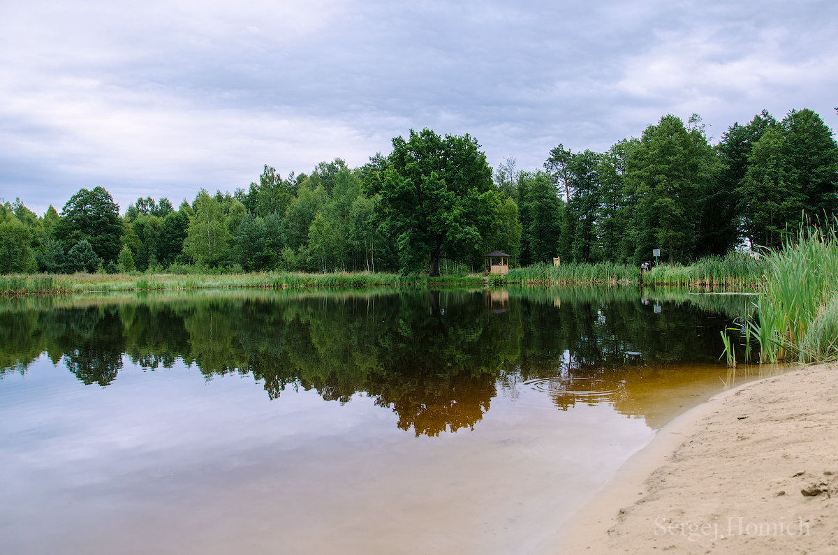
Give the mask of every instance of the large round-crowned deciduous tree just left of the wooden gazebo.
M 402 272 L 427 264 L 439 275 L 444 256 L 473 257 L 501 203 L 492 169 L 475 139 L 430 129 L 393 138 L 383 172 L 367 179 L 380 193 L 380 220 L 396 240 Z

